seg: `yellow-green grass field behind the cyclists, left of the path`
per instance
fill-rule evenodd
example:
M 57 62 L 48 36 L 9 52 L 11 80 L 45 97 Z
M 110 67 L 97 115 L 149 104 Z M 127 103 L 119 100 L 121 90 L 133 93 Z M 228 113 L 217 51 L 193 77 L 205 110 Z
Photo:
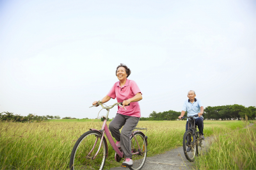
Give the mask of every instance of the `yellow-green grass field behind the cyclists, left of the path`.
M 101 125 L 102 121 L 80 120 L 0 122 L 0 169 L 68 169 L 77 139 L 89 128 L 100 129 Z M 148 128 L 148 156 L 182 146 L 185 125 L 186 121 L 140 121 L 138 127 Z M 243 121 L 204 121 L 204 133 L 206 136 L 226 134 L 244 126 Z M 105 168 L 120 166 L 114 155 L 109 148 Z M 197 166 L 200 167 L 200 162 Z

